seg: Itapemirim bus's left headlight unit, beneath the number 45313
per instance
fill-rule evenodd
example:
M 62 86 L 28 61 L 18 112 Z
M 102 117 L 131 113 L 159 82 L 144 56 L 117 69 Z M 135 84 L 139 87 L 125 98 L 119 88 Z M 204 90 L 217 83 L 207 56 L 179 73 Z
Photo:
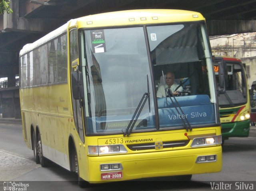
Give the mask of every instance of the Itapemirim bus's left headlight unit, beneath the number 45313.
M 124 145 L 100 145 L 100 146 L 88 146 L 89 155 L 104 155 L 104 154 L 116 154 L 127 153 Z

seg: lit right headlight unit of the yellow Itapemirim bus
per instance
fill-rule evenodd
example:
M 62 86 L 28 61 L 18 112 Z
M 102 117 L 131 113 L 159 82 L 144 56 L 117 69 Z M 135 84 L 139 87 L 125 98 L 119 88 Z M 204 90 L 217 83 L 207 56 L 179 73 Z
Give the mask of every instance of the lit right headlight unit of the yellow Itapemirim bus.
M 208 145 L 218 145 L 222 143 L 222 136 L 198 137 L 194 138 L 191 147 L 201 147 Z

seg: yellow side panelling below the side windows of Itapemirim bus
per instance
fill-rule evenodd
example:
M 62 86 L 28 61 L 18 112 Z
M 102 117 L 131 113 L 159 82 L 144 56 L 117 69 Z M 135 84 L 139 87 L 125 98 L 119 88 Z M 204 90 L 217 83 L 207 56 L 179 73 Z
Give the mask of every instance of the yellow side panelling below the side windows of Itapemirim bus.
M 69 168 L 68 137 L 70 123 L 74 122 L 67 89 L 68 84 L 20 89 L 20 101 L 24 113 L 22 123 L 26 125 L 23 127 L 26 145 L 32 149 L 31 128 L 38 128 L 44 156 Z

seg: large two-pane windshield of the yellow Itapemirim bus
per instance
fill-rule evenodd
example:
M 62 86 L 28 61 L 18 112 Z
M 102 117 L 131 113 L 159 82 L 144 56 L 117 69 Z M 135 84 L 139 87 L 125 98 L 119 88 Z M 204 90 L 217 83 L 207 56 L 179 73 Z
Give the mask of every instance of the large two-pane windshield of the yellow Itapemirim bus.
M 206 61 L 210 53 L 205 54 L 208 42 L 203 34 L 201 24 L 82 30 L 87 135 L 124 133 L 145 93 L 149 97 L 136 116 L 133 133 L 216 123 L 208 77 L 213 76 L 212 65 Z M 184 89 L 176 104 L 156 97 L 160 78 L 169 70 Z

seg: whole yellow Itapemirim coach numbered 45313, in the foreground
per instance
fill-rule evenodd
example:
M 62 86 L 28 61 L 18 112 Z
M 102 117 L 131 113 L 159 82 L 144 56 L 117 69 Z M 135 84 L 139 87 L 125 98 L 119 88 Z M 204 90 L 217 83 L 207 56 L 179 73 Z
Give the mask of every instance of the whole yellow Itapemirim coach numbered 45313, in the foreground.
M 166 87 L 170 71 L 179 96 Z M 200 13 L 126 10 L 70 20 L 24 46 L 20 79 L 24 140 L 35 161 L 75 171 L 80 186 L 221 171 Z M 157 97 L 161 86 L 166 95 Z

